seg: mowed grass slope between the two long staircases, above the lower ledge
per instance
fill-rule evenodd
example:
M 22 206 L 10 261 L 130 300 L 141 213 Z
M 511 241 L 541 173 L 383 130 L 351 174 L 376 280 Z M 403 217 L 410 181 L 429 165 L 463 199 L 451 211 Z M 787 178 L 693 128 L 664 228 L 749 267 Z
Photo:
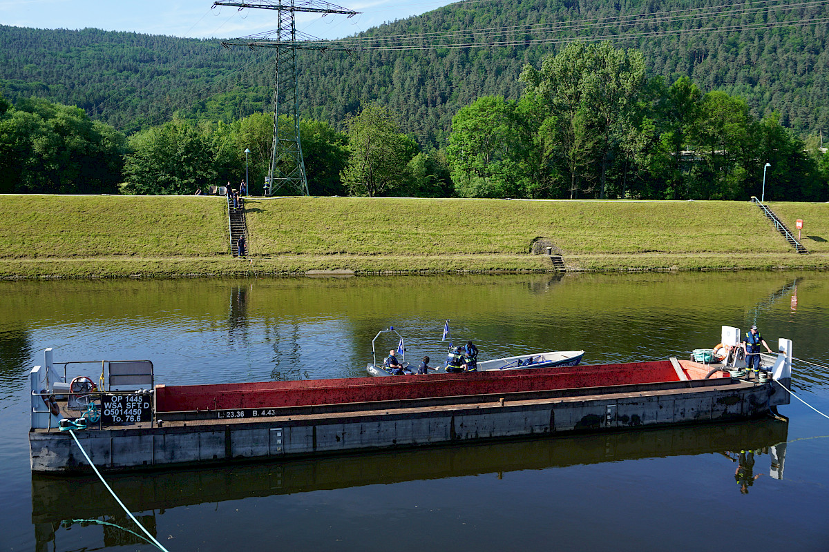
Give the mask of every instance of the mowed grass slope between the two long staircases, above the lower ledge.
M 570 254 L 790 250 L 748 202 L 283 198 L 247 206 L 251 251 L 262 255 L 520 255 L 539 237 Z

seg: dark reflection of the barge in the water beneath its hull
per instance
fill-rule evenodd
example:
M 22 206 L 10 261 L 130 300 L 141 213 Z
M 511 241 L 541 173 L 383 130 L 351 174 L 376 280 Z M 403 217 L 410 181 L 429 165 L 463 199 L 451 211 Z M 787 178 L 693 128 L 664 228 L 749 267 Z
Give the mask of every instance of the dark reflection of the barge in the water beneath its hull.
M 306 459 L 286 463 L 255 463 L 223 469 L 177 470 L 167 473 L 109 476 L 114 492 L 133 511 L 144 512 L 148 529 L 156 516 L 179 506 L 219 503 L 250 497 L 270 497 L 322 490 L 397 484 L 429 479 L 492 475 L 522 470 L 545 470 L 574 465 L 613 463 L 641 458 L 667 458 L 749 451 L 739 457 L 738 482 L 754 477 L 754 450 L 768 451 L 785 443 L 788 423 L 778 420 L 632 430 L 608 434 L 519 440 L 463 447 L 408 449 L 394 453 Z M 776 458 L 782 464 L 782 458 Z M 749 464 L 750 463 L 750 464 Z M 754 477 L 756 479 L 756 477 Z M 744 484 L 753 484 L 746 482 Z M 78 497 L 96 497 L 79 501 Z M 32 475 L 32 522 L 38 550 L 56 540 L 62 526 L 79 520 L 99 520 L 133 527 L 119 515 L 119 506 L 104 495 L 94 476 L 47 478 Z M 276 515 L 276 512 L 274 512 Z M 115 531 L 115 532 L 113 532 Z M 119 535 L 110 527 L 104 538 L 133 544 L 134 535 Z M 106 542 L 105 545 L 109 545 Z

